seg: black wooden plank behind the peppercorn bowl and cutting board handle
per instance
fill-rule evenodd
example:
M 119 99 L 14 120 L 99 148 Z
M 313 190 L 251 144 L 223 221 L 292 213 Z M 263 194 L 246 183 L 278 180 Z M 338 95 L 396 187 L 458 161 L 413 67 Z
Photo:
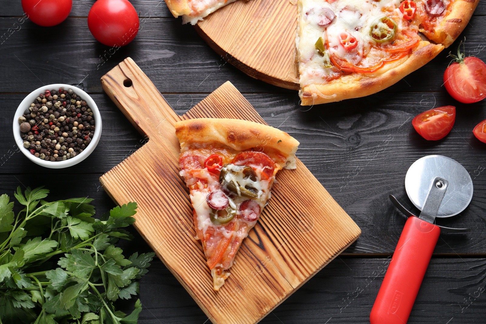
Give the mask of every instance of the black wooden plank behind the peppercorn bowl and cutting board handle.
M 16 21 L 17 18 L 12 17 L 0 18 L 0 30 L 7 31 Z M 88 92 L 99 93 L 102 92 L 100 77 L 130 56 L 163 93 L 210 93 L 229 80 L 242 93 L 290 92 L 297 98 L 296 91 L 255 80 L 226 63 L 224 57 L 211 50 L 191 26 L 181 26 L 177 19 L 150 18 L 142 26 L 132 43 L 114 51 L 94 40 L 86 20 L 68 18 L 50 30 L 53 34 L 74 34 L 76 37 L 68 37 L 65 46 L 52 52 L 51 45 L 36 41 L 43 37 L 44 30 L 25 22 L 20 30 L 0 44 L 1 91 L 28 93 L 42 84 L 77 85 L 82 82 Z M 478 31 L 485 29 L 486 17 L 475 16 L 463 33 L 467 38 L 466 51 L 482 60 L 486 60 L 485 41 Z M 458 42 L 451 45 L 450 50 L 455 51 L 457 45 Z M 425 67 L 388 88 L 389 91 L 442 91 L 442 75 L 451 62 L 448 53 L 443 51 Z M 380 98 L 385 100 L 384 96 Z M 352 106 L 345 101 L 339 107 L 349 109 Z

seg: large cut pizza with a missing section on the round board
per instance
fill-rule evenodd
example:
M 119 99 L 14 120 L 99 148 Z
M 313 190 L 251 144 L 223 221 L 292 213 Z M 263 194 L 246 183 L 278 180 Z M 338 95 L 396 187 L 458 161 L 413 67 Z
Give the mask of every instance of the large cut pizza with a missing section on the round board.
M 195 24 L 233 0 L 166 2 L 175 17 Z M 301 104 L 363 97 L 395 84 L 450 46 L 478 2 L 296 0 Z

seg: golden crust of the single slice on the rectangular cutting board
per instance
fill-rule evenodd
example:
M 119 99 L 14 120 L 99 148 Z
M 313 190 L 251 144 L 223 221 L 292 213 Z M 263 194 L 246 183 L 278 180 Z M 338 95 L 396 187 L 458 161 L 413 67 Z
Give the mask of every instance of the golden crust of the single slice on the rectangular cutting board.
M 175 135 L 179 138 L 182 152 L 189 149 L 191 144 L 201 142 L 218 142 L 237 151 L 271 148 L 286 158 L 282 167 L 295 169 L 295 151 L 299 142 L 268 125 L 242 119 L 187 119 L 175 123 Z

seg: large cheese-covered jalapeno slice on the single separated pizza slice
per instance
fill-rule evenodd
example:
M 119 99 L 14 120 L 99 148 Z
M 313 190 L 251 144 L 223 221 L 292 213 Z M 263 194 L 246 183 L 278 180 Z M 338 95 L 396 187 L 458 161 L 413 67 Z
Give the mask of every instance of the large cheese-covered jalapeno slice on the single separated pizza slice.
M 257 174 L 247 165 L 226 164 L 219 175 L 219 182 L 227 191 L 238 196 L 258 198 L 258 190 L 253 188 L 246 180 L 257 181 Z M 247 183 L 243 185 L 242 182 Z

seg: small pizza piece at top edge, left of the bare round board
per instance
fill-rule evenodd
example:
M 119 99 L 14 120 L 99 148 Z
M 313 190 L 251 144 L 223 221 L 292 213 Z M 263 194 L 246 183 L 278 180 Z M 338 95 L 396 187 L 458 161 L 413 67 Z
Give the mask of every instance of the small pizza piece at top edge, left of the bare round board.
M 199 20 L 236 0 L 165 0 L 174 17 L 182 16 L 182 23 L 195 25 Z

